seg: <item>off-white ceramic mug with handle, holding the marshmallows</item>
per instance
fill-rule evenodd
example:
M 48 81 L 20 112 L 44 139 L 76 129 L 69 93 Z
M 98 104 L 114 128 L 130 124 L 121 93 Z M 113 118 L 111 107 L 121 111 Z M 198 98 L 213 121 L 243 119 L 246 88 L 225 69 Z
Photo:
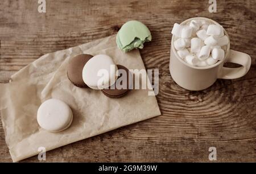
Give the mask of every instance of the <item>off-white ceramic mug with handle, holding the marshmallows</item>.
M 218 24 L 212 19 L 208 18 L 191 18 L 181 23 L 185 24 L 193 19 L 206 20 L 208 22 Z M 224 29 L 224 33 L 228 33 Z M 229 38 L 229 36 L 228 36 Z M 226 68 L 223 67 L 224 63 L 236 63 L 242 65 L 240 68 Z M 225 52 L 224 60 L 218 61 L 216 64 L 208 67 L 193 67 L 182 60 L 177 55 L 174 48 L 174 36 L 171 40 L 171 57 L 170 57 L 170 72 L 174 81 L 182 88 L 188 90 L 203 90 L 211 86 L 217 78 L 233 79 L 244 76 L 250 69 L 251 57 L 246 53 L 234 51 L 230 49 L 230 42 Z

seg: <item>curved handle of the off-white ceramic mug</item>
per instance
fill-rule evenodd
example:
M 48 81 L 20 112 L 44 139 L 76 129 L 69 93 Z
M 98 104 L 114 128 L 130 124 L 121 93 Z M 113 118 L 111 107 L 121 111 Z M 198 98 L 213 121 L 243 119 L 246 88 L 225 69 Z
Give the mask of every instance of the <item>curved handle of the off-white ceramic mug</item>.
M 250 69 L 251 57 L 246 53 L 234 51 L 230 49 L 228 59 L 226 62 L 236 63 L 242 65 L 240 68 L 226 68 L 222 67 L 218 78 L 233 79 L 244 76 Z

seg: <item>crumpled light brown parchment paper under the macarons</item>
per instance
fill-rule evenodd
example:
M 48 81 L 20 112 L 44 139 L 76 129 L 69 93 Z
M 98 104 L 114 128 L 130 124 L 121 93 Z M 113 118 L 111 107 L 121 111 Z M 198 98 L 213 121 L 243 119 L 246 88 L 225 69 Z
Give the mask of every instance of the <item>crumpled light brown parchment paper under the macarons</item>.
M 9 84 L 0 85 L 1 118 L 13 161 L 39 154 L 39 147 L 49 151 L 160 115 L 155 96 L 148 96 L 147 90 L 131 90 L 125 97 L 113 99 L 100 90 L 71 84 L 67 64 L 81 53 L 103 53 L 128 69 L 144 69 L 139 51 L 123 53 L 113 35 L 48 53 L 15 73 Z M 49 98 L 63 100 L 71 106 L 73 123 L 69 129 L 53 133 L 38 125 L 38 107 Z

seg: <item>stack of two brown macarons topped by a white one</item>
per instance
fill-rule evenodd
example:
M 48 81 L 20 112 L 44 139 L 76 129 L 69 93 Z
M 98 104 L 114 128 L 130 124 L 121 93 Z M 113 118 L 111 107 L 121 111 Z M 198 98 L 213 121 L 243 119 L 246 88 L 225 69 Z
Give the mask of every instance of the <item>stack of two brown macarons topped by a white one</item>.
M 116 84 L 116 82 L 120 82 L 118 78 L 124 74 L 126 77 L 122 78 L 122 84 Z M 75 56 L 69 61 L 67 75 L 75 86 L 101 90 L 105 96 L 110 98 L 119 98 L 129 92 L 130 71 L 122 65 L 116 65 L 112 57 L 108 55 L 82 54 Z M 117 85 L 121 88 L 118 88 Z

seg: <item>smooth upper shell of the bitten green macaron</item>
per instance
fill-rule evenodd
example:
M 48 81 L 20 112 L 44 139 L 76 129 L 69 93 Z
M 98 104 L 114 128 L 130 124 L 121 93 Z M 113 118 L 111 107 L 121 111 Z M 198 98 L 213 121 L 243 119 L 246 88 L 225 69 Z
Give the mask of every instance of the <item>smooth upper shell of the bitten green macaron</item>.
M 135 38 L 141 40 L 151 40 L 151 33 L 148 30 L 147 26 L 137 20 L 131 20 L 123 24 L 121 29 L 118 31 L 119 43 L 122 44 L 122 47 L 129 45 Z

